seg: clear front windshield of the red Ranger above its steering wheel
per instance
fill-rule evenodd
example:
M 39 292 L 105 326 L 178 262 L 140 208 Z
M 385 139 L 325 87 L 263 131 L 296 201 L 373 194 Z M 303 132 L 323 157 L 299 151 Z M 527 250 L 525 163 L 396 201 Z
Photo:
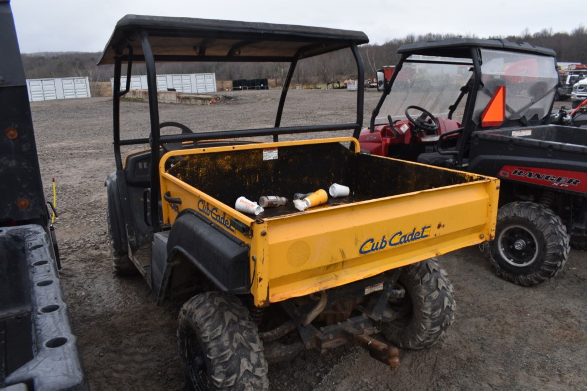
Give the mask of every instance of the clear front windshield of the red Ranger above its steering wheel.
M 385 98 L 376 117 L 376 124 L 406 118 L 408 106 L 420 106 L 436 117 L 446 118 L 449 106 L 454 104 L 461 93 L 461 87 L 470 79 L 473 67 L 471 59 L 449 57 L 410 56 L 397 73 L 392 91 Z M 465 99 L 460 106 L 464 106 Z M 461 120 L 462 109 L 457 110 L 454 119 Z

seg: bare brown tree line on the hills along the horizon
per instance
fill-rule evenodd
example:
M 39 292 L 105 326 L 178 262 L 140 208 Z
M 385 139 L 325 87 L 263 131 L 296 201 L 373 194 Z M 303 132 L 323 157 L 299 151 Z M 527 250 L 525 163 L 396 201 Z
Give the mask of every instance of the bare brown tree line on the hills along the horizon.
M 407 35 L 389 40 L 382 45 L 362 45 L 359 47 L 365 64 L 365 77 L 375 77 L 376 70 L 384 65 L 396 64 L 399 60 L 397 49 L 420 40 L 444 38 L 478 38 L 473 35 Z M 558 61 L 587 63 L 587 29 L 581 25 L 571 32 L 552 32 L 544 29 L 530 33 L 524 30 L 519 36 L 489 37 L 506 38 L 513 42 L 529 42 L 535 46 L 554 49 Z M 110 81 L 114 75 L 113 66 L 96 66 L 100 53 L 63 52 L 23 54 L 22 60 L 28 79 L 52 77 L 89 77 L 90 81 Z M 276 79 L 283 80 L 288 72 L 288 63 L 161 63 L 157 73 L 215 73 L 217 80 L 234 79 Z M 145 74 L 144 64 L 133 64 L 133 74 Z M 329 83 L 354 76 L 356 64 L 350 50 L 339 50 L 318 57 L 301 60 L 294 74 L 293 83 Z M 124 66 L 123 66 L 124 74 Z

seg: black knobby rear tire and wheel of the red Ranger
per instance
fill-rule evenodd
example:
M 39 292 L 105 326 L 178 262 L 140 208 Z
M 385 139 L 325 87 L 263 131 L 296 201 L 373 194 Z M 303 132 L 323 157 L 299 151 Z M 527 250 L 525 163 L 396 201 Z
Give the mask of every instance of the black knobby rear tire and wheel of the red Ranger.
M 495 240 L 485 254 L 495 273 L 519 285 L 555 277 L 569 257 L 569 236 L 560 217 L 534 202 L 512 202 L 497 213 Z

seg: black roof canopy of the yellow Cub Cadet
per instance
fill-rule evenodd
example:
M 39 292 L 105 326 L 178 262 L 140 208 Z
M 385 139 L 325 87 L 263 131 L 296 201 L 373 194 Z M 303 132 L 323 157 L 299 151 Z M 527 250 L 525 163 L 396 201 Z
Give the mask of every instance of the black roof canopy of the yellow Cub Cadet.
M 126 15 L 114 28 L 99 65 L 113 64 L 116 52 L 133 49 L 140 62 L 143 47 L 139 31 L 149 34 L 157 61 L 282 61 L 289 62 L 368 43 L 365 33 L 352 30 L 273 23 L 219 21 Z

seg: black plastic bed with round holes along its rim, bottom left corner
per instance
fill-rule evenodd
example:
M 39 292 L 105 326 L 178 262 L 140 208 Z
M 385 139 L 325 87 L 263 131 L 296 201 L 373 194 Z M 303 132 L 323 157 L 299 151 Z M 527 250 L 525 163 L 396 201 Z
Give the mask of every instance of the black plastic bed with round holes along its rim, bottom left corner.
M 0 227 L 0 298 L 0 387 L 87 390 L 43 227 Z

